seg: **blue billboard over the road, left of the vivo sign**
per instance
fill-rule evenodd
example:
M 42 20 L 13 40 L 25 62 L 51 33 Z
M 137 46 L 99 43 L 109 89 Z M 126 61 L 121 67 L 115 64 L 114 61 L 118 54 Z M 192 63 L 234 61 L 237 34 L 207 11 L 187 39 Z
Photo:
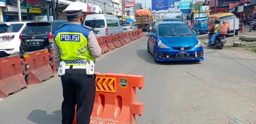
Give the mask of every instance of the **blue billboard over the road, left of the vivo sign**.
M 179 0 L 151 0 L 152 10 L 168 10 L 168 9 L 178 9 Z

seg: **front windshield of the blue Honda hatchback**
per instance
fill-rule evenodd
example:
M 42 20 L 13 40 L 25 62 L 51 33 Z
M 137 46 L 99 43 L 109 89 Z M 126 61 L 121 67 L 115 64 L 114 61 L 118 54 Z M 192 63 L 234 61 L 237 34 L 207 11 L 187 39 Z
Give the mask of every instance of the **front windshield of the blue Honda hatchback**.
M 158 27 L 159 36 L 194 35 L 194 32 L 187 24 L 160 24 Z

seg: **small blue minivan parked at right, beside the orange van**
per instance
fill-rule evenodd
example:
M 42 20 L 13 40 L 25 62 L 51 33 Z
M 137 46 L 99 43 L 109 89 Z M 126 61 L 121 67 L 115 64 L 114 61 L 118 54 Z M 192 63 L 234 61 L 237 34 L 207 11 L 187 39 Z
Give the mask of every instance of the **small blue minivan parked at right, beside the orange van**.
M 199 32 L 200 35 L 208 32 L 207 20 L 208 18 L 195 19 L 193 23 L 195 32 Z

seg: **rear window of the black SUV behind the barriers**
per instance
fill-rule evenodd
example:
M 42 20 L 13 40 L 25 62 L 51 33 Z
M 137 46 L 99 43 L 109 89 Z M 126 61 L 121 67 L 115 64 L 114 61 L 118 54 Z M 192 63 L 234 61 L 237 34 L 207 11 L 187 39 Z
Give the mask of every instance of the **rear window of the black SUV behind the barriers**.
M 22 34 L 35 34 L 43 35 L 50 32 L 51 23 L 48 22 L 33 22 L 27 23 L 27 26 L 23 29 Z

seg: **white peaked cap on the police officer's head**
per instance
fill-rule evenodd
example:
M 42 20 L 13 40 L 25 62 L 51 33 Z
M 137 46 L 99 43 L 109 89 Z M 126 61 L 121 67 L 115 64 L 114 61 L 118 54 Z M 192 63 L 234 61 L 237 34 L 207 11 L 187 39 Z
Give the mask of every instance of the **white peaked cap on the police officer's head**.
M 66 12 L 67 15 L 75 15 L 85 11 L 87 4 L 80 1 L 76 1 L 68 5 L 62 12 Z

